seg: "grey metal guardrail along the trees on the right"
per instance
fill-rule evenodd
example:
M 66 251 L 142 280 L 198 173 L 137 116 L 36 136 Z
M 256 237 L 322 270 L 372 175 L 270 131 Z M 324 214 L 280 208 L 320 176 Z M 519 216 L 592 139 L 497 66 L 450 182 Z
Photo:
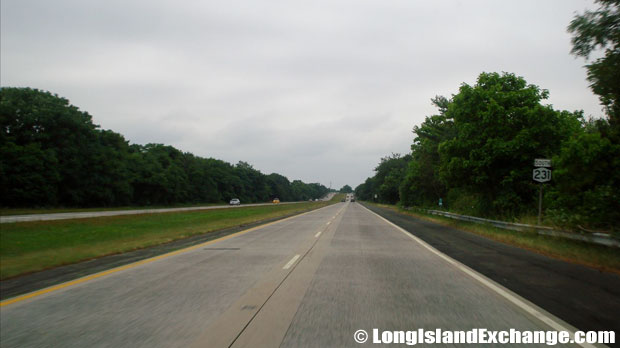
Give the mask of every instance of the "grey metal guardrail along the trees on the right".
M 427 210 L 430 214 L 433 215 L 441 215 L 445 217 L 449 217 L 451 219 L 463 220 L 463 221 L 471 221 L 480 224 L 488 224 L 495 227 L 503 228 L 506 230 L 513 231 L 536 231 L 538 234 L 554 236 L 560 238 L 567 238 L 573 240 L 579 240 L 586 243 L 605 245 L 614 248 L 620 248 L 620 240 L 606 233 L 588 233 L 588 234 L 580 234 L 573 232 L 565 232 L 554 230 L 551 227 L 547 226 L 536 226 L 536 225 L 528 225 L 528 224 L 518 224 L 512 222 L 505 222 L 499 220 L 489 220 L 483 219 L 475 216 L 467 216 L 467 215 L 459 215 L 454 213 L 449 213 L 440 210 Z

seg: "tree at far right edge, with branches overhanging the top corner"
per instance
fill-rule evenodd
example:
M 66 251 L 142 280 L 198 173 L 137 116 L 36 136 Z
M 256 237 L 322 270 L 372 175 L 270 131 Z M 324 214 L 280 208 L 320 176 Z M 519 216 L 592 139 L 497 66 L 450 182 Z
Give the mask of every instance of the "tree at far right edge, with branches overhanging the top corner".
M 589 61 L 590 88 L 608 116 L 587 124 L 567 142 L 556 162 L 557 191 L 550 195 L 552 215 L 569 225 L 618 230 L 620 224 L 620 1 L 597 0 L 596 11 L 577 15 L 568 26 L 571 53 Z

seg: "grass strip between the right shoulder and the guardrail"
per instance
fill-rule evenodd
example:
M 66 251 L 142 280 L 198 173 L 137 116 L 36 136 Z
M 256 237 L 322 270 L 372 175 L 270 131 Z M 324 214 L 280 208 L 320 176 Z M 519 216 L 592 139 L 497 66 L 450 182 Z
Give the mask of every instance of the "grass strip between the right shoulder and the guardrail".
M 615 248 L 540 235 L 535 231 L 518 232 L 504 230 L 487 224 L 450 219 L 443 216 L 428 214 L 423 211 L 404 210 L 394 205 L 375 205 L 447 227 L 475 233 L 483 237 L 528 249 L 563 261 L 620 274 L 620 250 Z

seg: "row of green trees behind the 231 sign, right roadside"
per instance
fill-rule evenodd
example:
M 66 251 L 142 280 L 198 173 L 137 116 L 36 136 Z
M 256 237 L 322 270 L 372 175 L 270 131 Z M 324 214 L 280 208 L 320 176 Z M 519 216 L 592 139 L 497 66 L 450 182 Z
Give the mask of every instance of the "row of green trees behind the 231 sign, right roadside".
M 595 12 L 569 26 L 573 51 L 604 56 L 586 65 L 605 118 L 554 110 L 549 92 L 511 73 L 482 73 L 450 98 L 437 96 L 436 115 L 413 129 L 411 153 L 381 159 L 355 189 L 360 199 L 443 207 L 485 217 L 535 214 L 536 158 L 552 159 L 545 184 L 547 219 L 568 228 L 617 231 L 620 226 L 620 5 L 599 0 Z M 376 195 L 376 196 L 375 196 Z M 376 198 L 375 198 L 376 197 Z

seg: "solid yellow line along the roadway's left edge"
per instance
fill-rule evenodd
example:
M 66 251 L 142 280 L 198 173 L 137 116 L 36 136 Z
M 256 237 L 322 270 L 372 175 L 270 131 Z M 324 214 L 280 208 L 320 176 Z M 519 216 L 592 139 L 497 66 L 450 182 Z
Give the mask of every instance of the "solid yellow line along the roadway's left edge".
M 162 254 L 162 255 L 159 255 L 159 256 L 154 256 L 154 257 L 151 257 L 151 258 L 148 258 L 148 259 L 144 259 L 144 260 L 140 260 L 140 261 L 136 261 L 134 263 L 130 263 L 130 264 L 127 264 L 127 265 L 124 265 L 124 266 L 119 266 L 119 267 L 116 267 L 116 268 L 112 268 L 112 269 L 109 269 L 107 271 L 102 271 L 102 272 L 99 272 L 99 273 L 91 274 L 89 276 L 86 276 L 86 277 L 83 277 L 83 278 L 79 278 L 79 279 L 76 279 L 76 280 L 72 280 L 72 281 L 69 281 L 69 282 L 66 282 L 66 283 L 54 285 L 54 286 L 51 286 L 49 288 L 45 288 L 45 289 L 37 290 L 37 291 L 31 292 L 31 293 L 27 293 L 27 294 L 24 294 L 24 295 L 20 295 L 20 296 L 17 296 L 17 297 L 13 297 L 13 298 L 10 298 L 8 300 L 4 300 L 4 301 L 0 302 L 0 307 L 4 307 L 4 306 L 7 306 L 7 305 L 10 305 L 10 304 L 13 304 L 13 303 L 21 302 L 21 301 L 24 301 L 24 300 L 27 300 L 27 299 L 30 299 L 30 298 L 34 298 L 34 297 L 37 297 L 37 296 L 49 294 L 51 292 L 58 291 L 58 290 L 61 290 L 61 289 L 64 289 L 64 288 L 68 288 L 68 287 L 73 286 L 73 285 L 81 284 L 81 283 L 84 283 L 84 282 L 87 282 L 87 281 L 90 281 L 90 280 L 93 280 L 93 279 L 97 279 L 97 278 L 101 278 L 101 277 L 107 276 L 109 274 L 113 274 L 113 273 L 117 273 L 117 272 L 120 272 L 120 271 L 124 271 L 126 269 L 130 269 L 130 268 L 134 268 L 134 267 L 137 267 L 137 266 L 141 266 L 141 265 L 144 265 L 144 264 L 147 264 L 147 263 L 151 263 L 151 262 L 154 262 L 154 261 L 157 261 L 157 260 L 165 259 L 165 258 L 168 258 L 170 256 L 174 256 L 174 255 L 178 255 L 178 254 L 185 253 L 185 252 L 188 252 L 188 251 L 192 251 L 192 250 L 204 247 L 206 245 L 214 244 L 214 243 L 217 243 L 217 242 L 221 242 L 221 241 L 233 238 L 233 237 L 237 237 L 237 236 L 246 234 L 248 232 L 255 231 L 255 230 L 259 229 L 259 228 L 264 228 L 264 227 L 271 226 L 271 225 L 274 225 L 274 224 L 277 224 L 277 223 L 280 223 L 280 222 L 283 222 L 283 221 L 286 221 L 286 220 L 289 220 L 289 219 L 292 219 L 292 218 L 296 218 L 296 217 L 299 217 L 299 216 L 302 216 L 302 215 L 306 215 L 306 214 L 311 213 L 313 211 L 316 211 L 316 210 L 319 210 L 319 209 L 323 209 L 323 208 L 327 208 L 329 206 L 331 206 L 331 204 L 327 205 L 325 207 L 321 207 L 321 208 L 318 208 L 318 209 L 307 211 L 305 213 L 289 216 L 289 217 L 281 219 L 281 220 L 269 222 L 269 223 L 266 223 L 264 225 L 252 227 L 252 228 L 244 230 L 244 231 L 239 231 L 239 232 L 236 232 L 236 233 L 233 233 L 233 234 L 229 234 L 227 236 L 220 237 L 220 238 L 217 238 L 217 239 L 213 239 L 213 240 L 210 240 L 208 242 L 204 242 L 204 243 L 201 243 L 201 244 L 196 244 L 196 245 L 193 245 L 191 247 L 175 250 L 175 251 L 172 251 L 172 252 L 169 252 L 169 253 L 166 253 L 166 254 Z

